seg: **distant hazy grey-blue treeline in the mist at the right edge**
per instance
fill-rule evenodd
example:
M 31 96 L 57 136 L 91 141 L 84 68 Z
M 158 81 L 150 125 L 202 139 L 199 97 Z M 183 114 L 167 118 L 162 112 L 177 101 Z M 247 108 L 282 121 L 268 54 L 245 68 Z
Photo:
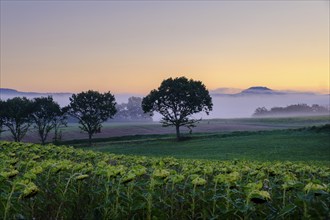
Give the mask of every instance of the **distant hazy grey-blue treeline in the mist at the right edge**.
M 285 115 L 325 115 L 330 114 L 330 108 L 320 105 L 296 104 L 287 107 L 273 107 L 268 110 L 265 107 L 259 107 L 255 110 L 253 116 L 285 116 Z

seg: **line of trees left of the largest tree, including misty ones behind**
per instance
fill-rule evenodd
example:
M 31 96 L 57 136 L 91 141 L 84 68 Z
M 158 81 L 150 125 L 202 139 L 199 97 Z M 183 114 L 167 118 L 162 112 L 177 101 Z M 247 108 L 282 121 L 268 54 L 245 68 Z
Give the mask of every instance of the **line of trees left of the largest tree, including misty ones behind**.
M 34 129 L 42 144 L 51 134 L 52 141 L 58 143 L 62 138 L 62 128 L 68 122 L 80 123 L 80 129 L 87 132 L 91 140 L 95 133 L 101 131 L 101 123 L 108 119 L 152 121 L 150 114 L 143 112 L 142 99 L 138 97 L 131 97 L 128 103 L 117 105 L 111 94 L 88 91 L 74 94 L 70 101 L 69 106 L 61 108 L 51 96 L 0 100 L 0 133 L 8 131 L 14 141 L 20 142 L 28 131 Z

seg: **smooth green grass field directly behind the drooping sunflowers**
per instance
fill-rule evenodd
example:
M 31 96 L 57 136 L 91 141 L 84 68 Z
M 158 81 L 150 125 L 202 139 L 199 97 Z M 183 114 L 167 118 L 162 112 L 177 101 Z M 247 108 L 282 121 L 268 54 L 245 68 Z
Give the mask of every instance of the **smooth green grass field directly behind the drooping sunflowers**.
M 287 129 L 200 133 L 177 142 L 173 135 L 138 135 L 98 139 L 90 149 L 126 155 L 191 159 L 330 162 L 330 130 Z M 65 144 L 86 146 L 85 141 Z

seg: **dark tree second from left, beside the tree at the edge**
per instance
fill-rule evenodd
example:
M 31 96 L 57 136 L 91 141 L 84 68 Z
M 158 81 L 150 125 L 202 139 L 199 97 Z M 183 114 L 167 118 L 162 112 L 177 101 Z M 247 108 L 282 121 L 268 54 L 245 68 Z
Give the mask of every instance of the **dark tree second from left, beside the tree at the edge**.
M 61 115 L 61 107 L 51 96 L 33 100 L 32 118 L 42 144 L 45 144 L 49 132 L 55 128 Z

